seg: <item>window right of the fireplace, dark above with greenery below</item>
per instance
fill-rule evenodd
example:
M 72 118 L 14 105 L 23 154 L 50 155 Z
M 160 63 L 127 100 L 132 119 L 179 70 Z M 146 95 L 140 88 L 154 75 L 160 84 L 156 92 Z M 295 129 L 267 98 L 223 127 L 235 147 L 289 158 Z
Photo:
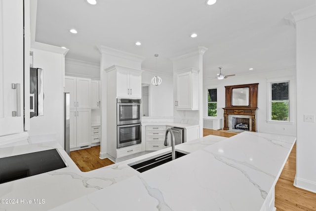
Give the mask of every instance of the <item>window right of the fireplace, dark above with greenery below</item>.
M 271 120 L 290 121 L 289 82 L 271 83 Z

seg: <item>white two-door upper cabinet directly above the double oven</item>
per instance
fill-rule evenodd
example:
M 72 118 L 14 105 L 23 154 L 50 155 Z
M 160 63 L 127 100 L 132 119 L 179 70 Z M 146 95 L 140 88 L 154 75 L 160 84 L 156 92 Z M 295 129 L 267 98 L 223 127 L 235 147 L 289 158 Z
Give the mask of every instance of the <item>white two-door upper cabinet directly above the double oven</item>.
M 116 90 L 118 98 L 142 98 L 142 70 L 114 65 L 106 72 L 108 93 Z

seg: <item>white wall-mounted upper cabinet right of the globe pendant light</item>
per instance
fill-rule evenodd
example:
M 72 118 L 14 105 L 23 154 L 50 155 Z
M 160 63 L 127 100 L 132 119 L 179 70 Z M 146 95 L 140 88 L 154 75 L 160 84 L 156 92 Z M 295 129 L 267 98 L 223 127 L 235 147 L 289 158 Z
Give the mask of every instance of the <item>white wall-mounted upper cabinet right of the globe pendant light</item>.
M 177 110 L 198 110 L 198 70 L 189 68 L 176 72 Z

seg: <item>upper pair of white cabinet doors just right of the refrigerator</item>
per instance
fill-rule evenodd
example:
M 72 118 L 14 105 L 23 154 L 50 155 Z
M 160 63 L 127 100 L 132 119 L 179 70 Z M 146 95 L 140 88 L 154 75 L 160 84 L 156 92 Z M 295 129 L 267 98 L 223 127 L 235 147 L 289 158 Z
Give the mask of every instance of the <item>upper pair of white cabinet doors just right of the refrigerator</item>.
M 70 92 L 70 108 L 91 108 L 90 100 L 91 79 L 65 77 L 65 92 Z

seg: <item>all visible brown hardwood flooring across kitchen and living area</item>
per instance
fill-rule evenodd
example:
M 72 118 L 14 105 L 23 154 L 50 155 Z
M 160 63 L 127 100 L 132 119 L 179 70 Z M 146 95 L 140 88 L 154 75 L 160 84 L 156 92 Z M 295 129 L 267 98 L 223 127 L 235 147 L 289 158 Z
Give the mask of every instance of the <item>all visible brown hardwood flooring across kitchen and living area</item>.
M 215 132 L 215 133 L 214 133 Z M 233 133 L 206 130 L 203 136 L 221 134 L 227 137 Z M 70 157 L 81 171 L 89 171 L 114 164 L 109 159 L 100 159 L 100 146 L 82 149 L 70 153 Z M 289 158 L 276 183 L 276 211 L 316 211 L 316 193 L 306 191 L 293 186 L 296 173 L 296 145 L 294 145 Z

